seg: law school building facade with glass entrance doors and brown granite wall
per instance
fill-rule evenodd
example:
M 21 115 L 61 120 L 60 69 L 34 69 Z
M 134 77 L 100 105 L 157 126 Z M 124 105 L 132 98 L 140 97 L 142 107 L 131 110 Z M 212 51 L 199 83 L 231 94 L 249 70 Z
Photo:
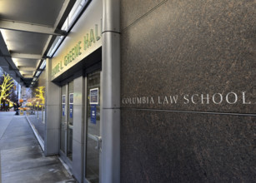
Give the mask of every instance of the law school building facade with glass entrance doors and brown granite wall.
M 254 1 L 93 0 L 38 78 L 78 182 L 254 182 Z

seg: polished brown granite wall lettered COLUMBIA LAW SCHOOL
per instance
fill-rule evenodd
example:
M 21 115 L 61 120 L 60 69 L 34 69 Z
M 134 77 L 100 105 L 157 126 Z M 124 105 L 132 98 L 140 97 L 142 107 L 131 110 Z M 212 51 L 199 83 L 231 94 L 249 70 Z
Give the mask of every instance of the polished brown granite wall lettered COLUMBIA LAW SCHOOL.
M 121 0 L 121 181 L 253 182 L 256 2 Z

